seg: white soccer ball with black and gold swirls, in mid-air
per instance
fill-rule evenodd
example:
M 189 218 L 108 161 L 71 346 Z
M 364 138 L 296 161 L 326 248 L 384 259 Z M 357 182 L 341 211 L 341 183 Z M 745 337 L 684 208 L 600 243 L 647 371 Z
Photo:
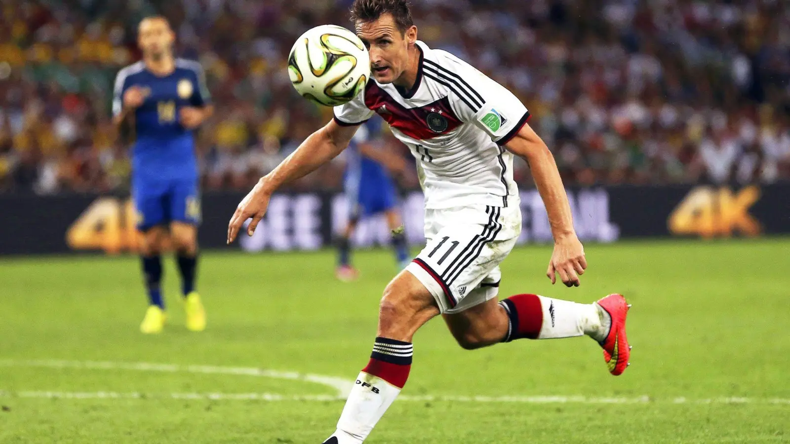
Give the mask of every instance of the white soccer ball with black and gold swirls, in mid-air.
M 288 76 L 296 92 L 333 107 L 352 100 L 371 78 L 371 58 L 353 32 L 322 24 L 296 40 L 288 55 Z

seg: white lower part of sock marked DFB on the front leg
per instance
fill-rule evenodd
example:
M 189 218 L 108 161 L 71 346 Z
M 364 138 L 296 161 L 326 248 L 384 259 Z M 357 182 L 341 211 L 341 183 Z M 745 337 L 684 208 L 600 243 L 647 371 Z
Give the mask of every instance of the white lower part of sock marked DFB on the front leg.
M 361 444 L 371 434 L 378 420 L 401 393 L 401 389 L 364 371 L 348 395 L 343 413 L 332 434 L 337 444 Z M 331 438 L 330 438 L 331 439 Z

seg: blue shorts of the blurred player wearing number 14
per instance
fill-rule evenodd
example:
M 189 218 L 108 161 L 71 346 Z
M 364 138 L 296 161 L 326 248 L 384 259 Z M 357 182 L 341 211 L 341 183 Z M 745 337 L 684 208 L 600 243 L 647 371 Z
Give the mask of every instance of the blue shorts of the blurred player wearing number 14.
M 170 222 L 200 224 L 197 179 L 135 179 L 132 201 L 137 210 L 137 229 L 141 231 Z

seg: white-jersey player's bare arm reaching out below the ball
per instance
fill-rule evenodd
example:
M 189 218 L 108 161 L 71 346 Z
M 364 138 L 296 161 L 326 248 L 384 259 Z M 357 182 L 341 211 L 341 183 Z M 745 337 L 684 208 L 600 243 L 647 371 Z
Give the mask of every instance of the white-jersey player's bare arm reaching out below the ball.
M 322 129 L 307 137 L 291 156 L 277 165 L 268 175 L 263 176 L 254 188 L 236 207 L 228 224 L 228 243 L 236 239 L 244 221 L 252 218 L 247 227 L 247 235 L 252 235 L 258 222 L 266 213 L 274 191 L 288 182 L 300 179 L 315 171 L 321 165 L 334 159 L 348 146 L 354 137 L 358 125 L 340 126 L 334 120 L 329 121 Z

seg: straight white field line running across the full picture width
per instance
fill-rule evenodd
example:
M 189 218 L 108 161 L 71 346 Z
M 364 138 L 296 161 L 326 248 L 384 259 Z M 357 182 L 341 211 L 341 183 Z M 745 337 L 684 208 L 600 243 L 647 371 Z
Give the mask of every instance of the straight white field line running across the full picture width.
M 140 393 L 140 392 L 47 392 L 0 390 L 3 398 L 44 398 L 44 399 L 177 399 L 207 401 L 345 401 L 345 397 L 333 395 L 281 395 L 277 393 Z M 675 398 L 656 400 L 641 397 L 583 397 L 583 396 L 536 396 L 536 397 L 464 397 L 464 396 L 408 396 L 398 397 L 398 401 L 450 401 L 475 403 L 521 403 L 521 404 L 785 404 L 790 399 L 754 397 L 717 397 L 709 399 Z

